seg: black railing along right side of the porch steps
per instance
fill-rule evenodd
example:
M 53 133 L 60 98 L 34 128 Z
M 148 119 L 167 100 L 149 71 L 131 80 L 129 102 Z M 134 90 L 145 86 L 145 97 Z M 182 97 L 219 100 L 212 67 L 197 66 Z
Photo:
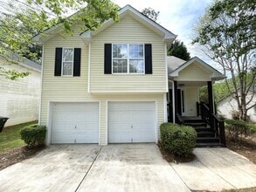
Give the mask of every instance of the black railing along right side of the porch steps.
M 220 142 L 225 146 L 225 124 L 223 120 L 219 120 L 218 117 L 210 112 L 208 106 L 205 103 L 200 103 L 200 115 L 215 131 Z

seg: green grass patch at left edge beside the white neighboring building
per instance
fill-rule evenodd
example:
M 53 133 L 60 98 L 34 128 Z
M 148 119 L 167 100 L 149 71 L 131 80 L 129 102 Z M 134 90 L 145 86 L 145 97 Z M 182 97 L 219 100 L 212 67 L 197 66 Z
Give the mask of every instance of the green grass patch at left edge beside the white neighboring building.
M 25 143 L 20 139 L 19 130 L 31 124 L 36 124 L 37 121 L 18 124 L 15 126 L 4 127 L 0 133 L 0 153 L 9 151 L 10 149 L 24 146 Z

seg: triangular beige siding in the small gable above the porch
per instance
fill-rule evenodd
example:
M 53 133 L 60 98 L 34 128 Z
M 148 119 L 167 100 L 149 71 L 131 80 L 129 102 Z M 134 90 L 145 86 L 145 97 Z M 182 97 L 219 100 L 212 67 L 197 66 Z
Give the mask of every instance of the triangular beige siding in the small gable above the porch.
M 188 80 L 188 81 L 210 81 L 211 72 L 204 69 L 202 65 L 197 62 L 188 65 L 181 72 L 175 80 Z

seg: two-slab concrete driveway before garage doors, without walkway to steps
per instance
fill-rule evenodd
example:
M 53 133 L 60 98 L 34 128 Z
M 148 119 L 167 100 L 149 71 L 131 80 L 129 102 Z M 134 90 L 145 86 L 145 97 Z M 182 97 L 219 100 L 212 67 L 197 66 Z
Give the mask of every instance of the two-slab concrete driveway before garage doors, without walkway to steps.
M 50 146 L 0 178 L 0 191 L 190 191 L 156 144 Z

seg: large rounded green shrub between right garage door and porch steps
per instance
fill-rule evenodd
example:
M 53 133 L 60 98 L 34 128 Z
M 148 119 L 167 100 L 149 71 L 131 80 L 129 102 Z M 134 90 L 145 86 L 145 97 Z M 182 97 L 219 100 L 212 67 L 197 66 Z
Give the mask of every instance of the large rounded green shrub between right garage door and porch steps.
M 187 157 L 196 147 L 197 133 L 192 127 L 163 123 L 160 132 L 163 148 L 170 154 Z

